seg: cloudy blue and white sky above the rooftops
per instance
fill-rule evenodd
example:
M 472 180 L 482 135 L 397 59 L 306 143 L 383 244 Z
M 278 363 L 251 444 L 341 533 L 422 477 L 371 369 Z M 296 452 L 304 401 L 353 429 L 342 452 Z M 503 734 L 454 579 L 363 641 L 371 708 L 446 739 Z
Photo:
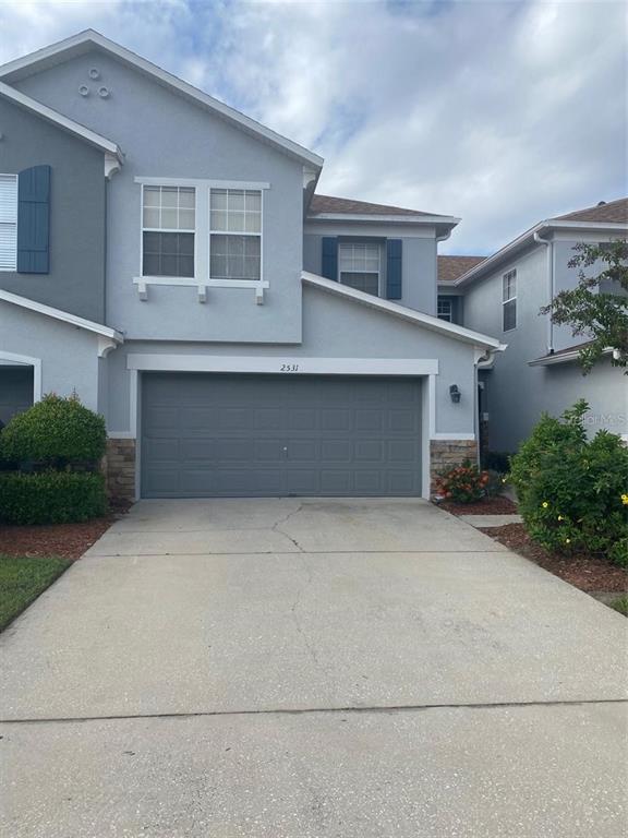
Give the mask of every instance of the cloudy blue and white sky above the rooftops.
M 627 10 L 0 0 L 0 63 L 95 28 L 325 157 L 318 192 L 455 215 L 440 252 L 487 254 L 628 194 Z

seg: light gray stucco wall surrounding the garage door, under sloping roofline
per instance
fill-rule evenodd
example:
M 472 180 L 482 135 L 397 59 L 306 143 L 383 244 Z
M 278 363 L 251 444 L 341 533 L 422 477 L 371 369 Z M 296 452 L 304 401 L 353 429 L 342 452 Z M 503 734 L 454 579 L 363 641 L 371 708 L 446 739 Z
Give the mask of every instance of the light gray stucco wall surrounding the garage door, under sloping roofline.
M 129 432 L 130 381 L 126 359 L 131 354 L 214 357 L 254 356 L 291 363 L 300 358 L 437 360 L 435 431 L 448 434 L 475 432 L 474 349 L 439 333 L 411 325 L 367 306 L 345 300 L 321 289 L 303 289 L 303 340 L 300 345 L 126 342 L 107 356 L 110 432 Z M 449 386 L 462 393 L 454 405 Z

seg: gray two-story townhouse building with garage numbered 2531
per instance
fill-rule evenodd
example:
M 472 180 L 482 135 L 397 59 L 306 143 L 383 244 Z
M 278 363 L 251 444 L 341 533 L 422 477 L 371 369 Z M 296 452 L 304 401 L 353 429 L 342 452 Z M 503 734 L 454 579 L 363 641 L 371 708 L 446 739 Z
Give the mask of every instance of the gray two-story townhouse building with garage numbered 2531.
M 503 346 L 437 316 L 458 219 L 314 196 L 316 154 L 94 32 L 0 82 L 1 419 L 75 392 L 128 498 L 428 496 L 476 456 Z

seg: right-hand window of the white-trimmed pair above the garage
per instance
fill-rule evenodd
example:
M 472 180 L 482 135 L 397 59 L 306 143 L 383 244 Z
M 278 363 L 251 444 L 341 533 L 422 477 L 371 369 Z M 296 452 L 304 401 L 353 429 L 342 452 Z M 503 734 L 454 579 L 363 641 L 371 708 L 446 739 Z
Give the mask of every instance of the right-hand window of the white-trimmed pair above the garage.
M 262 278 L 261 190 L 210 190 L 209 277 Z

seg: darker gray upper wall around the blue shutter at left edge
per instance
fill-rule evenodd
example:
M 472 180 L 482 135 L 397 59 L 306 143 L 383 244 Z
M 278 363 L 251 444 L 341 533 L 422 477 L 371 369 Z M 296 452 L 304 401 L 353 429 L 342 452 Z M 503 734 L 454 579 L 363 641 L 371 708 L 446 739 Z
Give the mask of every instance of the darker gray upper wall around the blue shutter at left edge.
M 105 319 L 101 152 L 0 98 L 0 172 L 51 171 L 50 273 L 0 272 L 0 288 L 97 322 Z

